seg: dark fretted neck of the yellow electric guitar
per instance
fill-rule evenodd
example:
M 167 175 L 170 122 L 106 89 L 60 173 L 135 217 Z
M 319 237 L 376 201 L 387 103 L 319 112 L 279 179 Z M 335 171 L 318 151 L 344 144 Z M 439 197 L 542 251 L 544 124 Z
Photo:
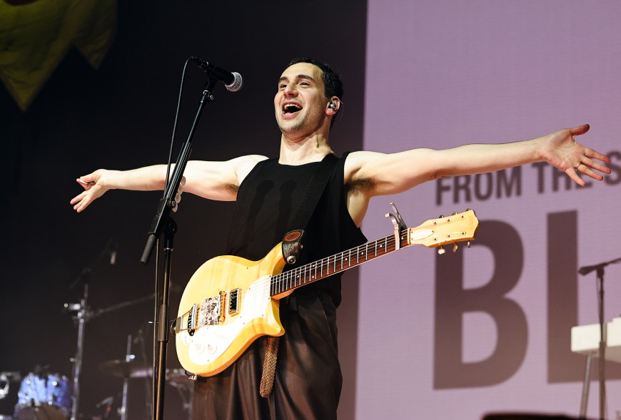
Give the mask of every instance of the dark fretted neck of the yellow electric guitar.
M 408 243 L 408 230 L 402 230 L 400 232 L 400 247 L 408 245 L 410 245 Z M 338 252 L 338 254 L 330 255 L 330 257 L 325 257 L 322 260 L 296 267 L 271 278 L 270 295 L 274 297 L 298 287 L 310 285 L 312 282 L 357 267 L 363 262 L 375 260 L 375 258 L 390 254 L 390 252 L 398 249 L 395 247 L 395 235 L 389 235 L 353 247 L 350 250 Z

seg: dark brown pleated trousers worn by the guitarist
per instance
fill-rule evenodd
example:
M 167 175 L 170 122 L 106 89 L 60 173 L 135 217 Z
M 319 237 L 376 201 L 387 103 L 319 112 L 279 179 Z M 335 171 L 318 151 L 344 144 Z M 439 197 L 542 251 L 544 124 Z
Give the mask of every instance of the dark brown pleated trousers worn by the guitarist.
M 280 312 L 285 335 L 270 397 L 259 395 L 266 348 L 261 337 L 224 372 L 196 381 L 193 419 L 336 419 L 343 377 L 332 300 L 294 292 L 281 300 Z

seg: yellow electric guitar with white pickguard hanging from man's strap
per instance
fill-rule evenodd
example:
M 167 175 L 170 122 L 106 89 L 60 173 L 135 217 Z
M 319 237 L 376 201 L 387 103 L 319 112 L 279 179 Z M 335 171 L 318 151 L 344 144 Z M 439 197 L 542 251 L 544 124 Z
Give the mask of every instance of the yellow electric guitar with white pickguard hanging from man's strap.
M 474 239 L 478 227 L 473 210 L 412 228 L 405 226 L 394 205 L 393 210 L 396 216 L 386 215 L 395 226 L 393 235 L 286 272 L 281 244 L 258 261 L 223 255 L 205 262 L 183 292 L 173 327 L 181 366 L 201 377 L 218 374 L 258 337 L 285 333 L 278 300 L 298 287 L 410 245 L 440 247 L 443 254 L 443 245 Z

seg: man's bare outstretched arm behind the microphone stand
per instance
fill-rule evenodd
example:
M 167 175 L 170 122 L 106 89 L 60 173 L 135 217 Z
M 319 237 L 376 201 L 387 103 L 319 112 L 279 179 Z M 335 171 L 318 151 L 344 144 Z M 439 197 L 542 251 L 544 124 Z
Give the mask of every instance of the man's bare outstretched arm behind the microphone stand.
M 225 162 L 191 160 L 183 172 L 185 183 L 178 190 L 211 200 L 232 201 L 237 188 L 254 165 L 265 156 L 248 155 Z M 163 190 L 166 181 L 166 165 L 153 165 L 133 170 L 98 169 L 81 176 L 77 182 L 84 191 L 71 200 L 74 210 L 81 212 L 108 190 Z M 178 201 L 178 200 L 177 200 Z

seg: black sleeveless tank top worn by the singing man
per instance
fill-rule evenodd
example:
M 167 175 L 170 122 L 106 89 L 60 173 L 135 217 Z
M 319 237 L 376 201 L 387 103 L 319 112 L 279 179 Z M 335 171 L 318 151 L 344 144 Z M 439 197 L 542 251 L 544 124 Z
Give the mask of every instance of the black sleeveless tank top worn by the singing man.
M 296 265 L 288 265 L 286 270 L 366 242 L 365 236 L 347 210 L 343 183 L 347 155 L 348 153 L 343 154 L 336 164 L 315 212 L 310 217 L 298 262 Z M 227 254 L 253 261 L 261 260 L 283 240 L 286 232 L 303 228 L 291 226 L 291 223 L 318 165 L 318 162 L 281 165 L 278 159 L 257 163 L 239 186 L 228 235 Z M 294 293 L 318 292 L 327 294 L 338 305 L 340 274 L 301 287 Z

